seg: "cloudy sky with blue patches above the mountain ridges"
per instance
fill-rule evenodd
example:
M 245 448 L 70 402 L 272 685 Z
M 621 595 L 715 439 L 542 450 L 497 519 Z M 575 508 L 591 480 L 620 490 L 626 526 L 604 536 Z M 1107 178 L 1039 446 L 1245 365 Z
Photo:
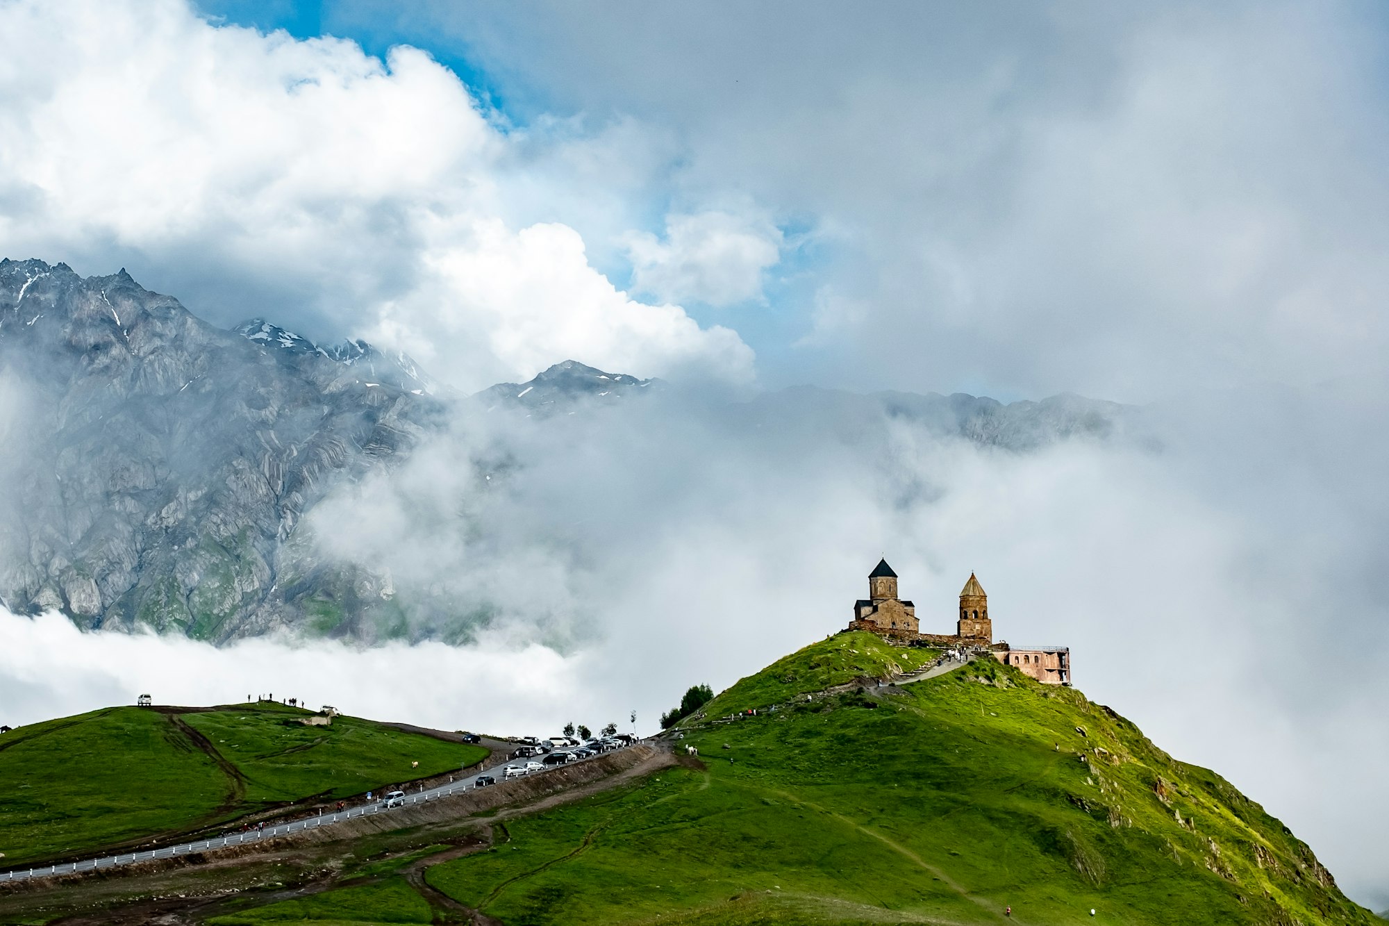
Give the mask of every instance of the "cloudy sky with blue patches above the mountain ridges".
M 218 324 L 390 342 L 465 370 L 460 388 L 567 356 L 745 389 L 1128 402 L 1383 373 L 1375 4 L 228 0 L 201 3 L 201 25 L 179 10 L 143 14 L 186 33 L 189 61 L 158 46 L 161 86 L 222 76 L 126 103 L 219 152 L 215 174 L 171 168 L 200 204 L 169 195 L 163 227 L 136 228 L 93 207 L 129 186 L 119 159 L 74 165 L 90 189 L 50 190 L 44 171 L 75 154 L 35 149 L 13 182 L 69 197 L 81 228 L 18 211 L 11 249 L 128 266 Z M 447 71 L 217 24 L 381 61 L 413 46 Z M 217 53 L 194 64 L 200 43 Z M 65 92 L 96 99 L 85 79 Z M 217 107 L 246 131 L 178 125 Z M 356 140 L 254 128 L 289 113 Z M 160 200 L 156 159 L 179 145 L 126 140 L 153 184 L 126 195 Z M 354 202 L 331 220 L 328 178 Z M 478 277 L 500 267 L 510 281 Z M 521 267 L 544 279 L 518 284 Z

